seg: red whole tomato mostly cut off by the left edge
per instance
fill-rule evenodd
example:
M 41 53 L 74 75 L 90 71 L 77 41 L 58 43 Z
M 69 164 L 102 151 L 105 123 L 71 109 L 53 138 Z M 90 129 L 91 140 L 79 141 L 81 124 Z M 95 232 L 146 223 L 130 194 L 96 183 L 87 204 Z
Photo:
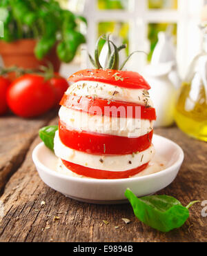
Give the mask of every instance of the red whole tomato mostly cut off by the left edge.
M 0 77 L 0 115 L 6 114 L 8 112 L 8 104 L 6 102 L 6 92 L 8 86 L 10 85 L 10 80 L 6 77 Z

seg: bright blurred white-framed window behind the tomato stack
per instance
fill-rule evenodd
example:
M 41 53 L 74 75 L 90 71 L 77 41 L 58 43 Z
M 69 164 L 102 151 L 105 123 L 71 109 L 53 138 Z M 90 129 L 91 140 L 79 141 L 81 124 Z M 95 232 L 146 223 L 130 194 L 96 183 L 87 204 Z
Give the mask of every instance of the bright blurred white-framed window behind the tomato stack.
M 66 0 L 61 4 L 83 14 L 88 20 L 86 37 L 89 52 L 93 51 L 97 37 L 104 32 L 113 32 L 121 37 L 123 43 L 128 43 L 126 54 L 134 50 L 146 51 L 148 56 L 133 57 L 128 66 L 130 70 L 143 70 L 151 60 L 158 33 L 167 29 L 177 46 L 181 77 L 184 77 L 189 62 L 201 50 L 198 24 L 204 0 Z M 84 67 L 89 62 L 82 61 L 81 64 Z

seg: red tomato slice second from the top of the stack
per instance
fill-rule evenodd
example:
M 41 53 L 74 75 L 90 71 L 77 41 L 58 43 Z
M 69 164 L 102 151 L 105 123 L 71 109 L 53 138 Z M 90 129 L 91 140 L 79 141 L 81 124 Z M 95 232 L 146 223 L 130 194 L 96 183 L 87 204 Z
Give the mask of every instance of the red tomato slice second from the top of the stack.
M 146 106 L 128 103 L 125 101 L 107 101 L 106 99 L 99 98 L 92 99 L 82 96 L 64 95 L 61 99 L 60 105 L 74 110 L 81 110 L 89 113 L 90 115 L 156 120 L 155 108 L 146 108 Z M 97 109 L 96 107 L 101 111 L 95 111 Z M 109 107 L 111 111 L 106 110 L 106 107 Z M 124 108 L 124 111 L 118 111 L 120 107 Z M 136 110 L 138 115 L 136 115 Z M 140 110 L 140 112 L 138 110 Z

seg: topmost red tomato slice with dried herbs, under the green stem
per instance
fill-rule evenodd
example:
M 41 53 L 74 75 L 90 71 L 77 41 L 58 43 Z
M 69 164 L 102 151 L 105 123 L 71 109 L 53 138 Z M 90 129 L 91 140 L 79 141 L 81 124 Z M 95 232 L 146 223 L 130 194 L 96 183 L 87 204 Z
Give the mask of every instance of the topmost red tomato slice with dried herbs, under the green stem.
M 132 71 L 86 69 L 76 72 L 68 81 L 99 81 L 123 88 L 150 90 L 148 82 L 139 73 Z

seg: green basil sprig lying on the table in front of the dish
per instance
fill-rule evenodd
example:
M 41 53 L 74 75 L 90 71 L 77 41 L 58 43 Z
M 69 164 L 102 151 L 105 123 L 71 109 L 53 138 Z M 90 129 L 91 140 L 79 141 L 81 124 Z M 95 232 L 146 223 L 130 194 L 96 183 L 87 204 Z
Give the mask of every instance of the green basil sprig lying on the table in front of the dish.
M 168 195 L 138 198 L 128 188 L 125 196 L 130 201 L 135 216 L 144 224 L 161 232 L 169 232 L 183 226 L 189 217 L 188 207 L 182 206 L 180 201 Z M 193 201 L 188 206 L 192 206 L 196 202 Z

